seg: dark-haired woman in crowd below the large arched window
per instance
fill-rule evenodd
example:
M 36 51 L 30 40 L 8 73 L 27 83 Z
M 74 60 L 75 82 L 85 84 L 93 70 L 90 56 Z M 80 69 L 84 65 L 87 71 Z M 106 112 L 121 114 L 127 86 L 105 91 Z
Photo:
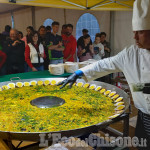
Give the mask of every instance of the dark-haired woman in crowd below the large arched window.
M 78 46 L 77 56 L 80 62 L 93 58 L 94 50 L 93 45 L 90 44 L 90 39 L 91 38 L 89 34 L 84 35 L 83 36 L 84 43 L 81 43 Z

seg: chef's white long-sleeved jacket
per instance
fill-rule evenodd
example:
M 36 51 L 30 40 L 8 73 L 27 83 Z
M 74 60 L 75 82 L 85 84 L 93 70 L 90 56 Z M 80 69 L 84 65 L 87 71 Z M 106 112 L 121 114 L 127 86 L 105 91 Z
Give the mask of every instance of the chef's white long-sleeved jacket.
M 114 72 L 123 72 L 130 86 L 135 107 L 150 114 L 150 94 L 133 92 L 132 83 L 150 83 L 150 51 L 132 45 L 116 56 L 99 60 L 80 69 L 87 81 Z

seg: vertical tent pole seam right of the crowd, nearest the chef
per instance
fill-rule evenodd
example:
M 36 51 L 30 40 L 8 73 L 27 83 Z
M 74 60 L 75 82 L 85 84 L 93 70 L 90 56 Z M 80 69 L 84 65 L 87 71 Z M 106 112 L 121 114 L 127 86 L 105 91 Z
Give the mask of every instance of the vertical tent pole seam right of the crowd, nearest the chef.
M 111 47 L 111 56 L 114 55 L 114 15 L 115 12 L 114 11 L 110 11 L 110 37 L 109 37 L 109 41 L 110 41 L 110 47 Z

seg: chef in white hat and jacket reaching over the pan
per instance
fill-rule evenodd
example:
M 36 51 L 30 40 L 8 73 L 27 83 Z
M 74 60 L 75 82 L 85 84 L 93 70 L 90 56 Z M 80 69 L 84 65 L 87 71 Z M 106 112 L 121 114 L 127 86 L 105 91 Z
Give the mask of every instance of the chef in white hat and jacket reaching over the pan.
M 136 0 L 133 7 L 132 26 L 136 44 L 125 48 L 116 56 L 105 58 L 89 66 L 81 68 L 58 85 L 64 87 L 83 76 L 92 81 L 114 72 L 123 72 L 130 86 L 135 107 L 138 109 L 138 119 L 135 136 L 140 141 L 146 139 L 146 147 L 150 149 L 150 90 L 147 93 L 134 92 L 132 85 L 150 83 L 150 0 Z M 145 146 L 145 145 L 144 145 Z

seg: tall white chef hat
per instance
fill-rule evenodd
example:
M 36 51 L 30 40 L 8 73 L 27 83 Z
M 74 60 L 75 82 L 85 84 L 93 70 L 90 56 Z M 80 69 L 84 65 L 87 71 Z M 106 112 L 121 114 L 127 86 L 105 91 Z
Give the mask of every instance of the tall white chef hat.
M 132 28 L 133 31 L 150 30 L 150 0 L 135 0 Z

